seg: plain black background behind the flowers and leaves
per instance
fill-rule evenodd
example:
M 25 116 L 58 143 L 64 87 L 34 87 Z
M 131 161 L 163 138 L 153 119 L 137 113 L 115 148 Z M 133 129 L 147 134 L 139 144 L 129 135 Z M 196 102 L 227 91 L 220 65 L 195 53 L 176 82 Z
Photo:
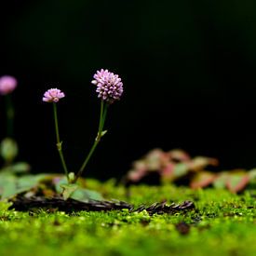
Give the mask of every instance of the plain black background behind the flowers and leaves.
M 0 75 L 19 80 L 20 159 L 61 172 L 47 88 L 61 88 L 61 138 L 76 171 L 95 138 L 100 101 L 90 81 L 124 82 L 87 175 L 108 179 L 155 147 L 256 166 L 256 3 L 253 0 L 2 1 Z M 1 109 L 3 103 L 1 101 Z M 5 135 L 4 113 L 0 112 Z

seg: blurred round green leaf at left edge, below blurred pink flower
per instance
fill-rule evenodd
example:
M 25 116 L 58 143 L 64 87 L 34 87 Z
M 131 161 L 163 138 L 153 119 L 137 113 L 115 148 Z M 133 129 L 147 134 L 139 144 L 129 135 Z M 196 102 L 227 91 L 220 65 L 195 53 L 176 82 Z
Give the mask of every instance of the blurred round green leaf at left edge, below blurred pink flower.
M 16 141 L 11 138 L 6 138 L 1 141 L 0 155 L 7 163 L 11 163 L 13 159 L 18 155 L 18 145 Z

